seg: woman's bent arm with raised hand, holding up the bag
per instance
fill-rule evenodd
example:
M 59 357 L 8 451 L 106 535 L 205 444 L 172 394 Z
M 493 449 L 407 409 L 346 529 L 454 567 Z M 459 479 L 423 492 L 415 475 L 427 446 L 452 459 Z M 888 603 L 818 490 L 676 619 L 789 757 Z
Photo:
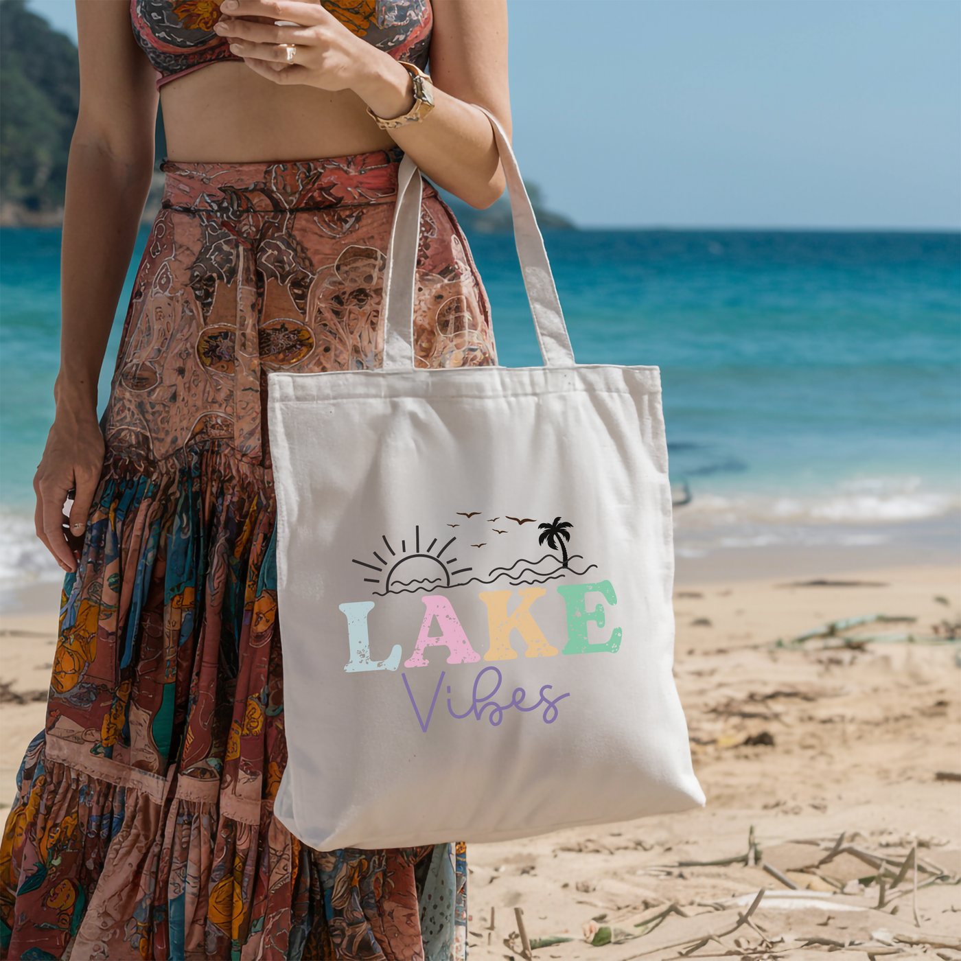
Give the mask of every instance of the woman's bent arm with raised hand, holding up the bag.
M 510 132 L 506 0 L 433 0 L 431 80 L 434 109 L 419 123 L 388 133 L 431 180 L 473 207 L 504 192 L 504 173 L 480 104 Z M 223 0 L 217 33 L 252 69 L 277 84 L 351 89 L 378 116 L 413 106 L 410 75 L 389 54 L 356 37 L 319 4 L 294 0 Z M 275 27 L 238 17 L 290 20 Z M 285 65 L 283 44 L 297 45 Z M 373 120 L 370 121 L 373 124 Z

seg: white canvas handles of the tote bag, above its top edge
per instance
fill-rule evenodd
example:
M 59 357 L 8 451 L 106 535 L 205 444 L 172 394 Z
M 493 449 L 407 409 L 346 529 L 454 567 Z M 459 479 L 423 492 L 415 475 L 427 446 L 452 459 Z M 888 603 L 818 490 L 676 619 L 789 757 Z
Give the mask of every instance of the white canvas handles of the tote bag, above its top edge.
M 540 344 L 545 367 L 573 367 L 576 363 L 571 339 L 564 324 L 551 264 L 544 249 L 544 238 L 537 227 L 530 197 L 521 180 L 517 160 L 497 118 L 487 114 L 494 128 L 494 139 L 501 155 L 514 222 L 514 242 L 521 261 L 524 286 L 528 291 L 530 313 Z M 387 268 L 383 281 L 383 368 L 412 370 L 413 307 L 417 246 L 420 241 L 421 173 L 413 160 L 405 155 L 397 177 L 397 207 L 387 250 Z

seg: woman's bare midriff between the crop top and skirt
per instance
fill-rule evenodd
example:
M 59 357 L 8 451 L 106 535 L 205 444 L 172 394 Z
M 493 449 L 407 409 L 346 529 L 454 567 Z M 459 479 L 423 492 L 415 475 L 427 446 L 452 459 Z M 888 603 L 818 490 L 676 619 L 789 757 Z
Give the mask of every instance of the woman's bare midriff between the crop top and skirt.
M 394 145 L 352 90 L 273 84 L 242 62 L 171 80 L 160 103 L 169 160 L 320 160 Z

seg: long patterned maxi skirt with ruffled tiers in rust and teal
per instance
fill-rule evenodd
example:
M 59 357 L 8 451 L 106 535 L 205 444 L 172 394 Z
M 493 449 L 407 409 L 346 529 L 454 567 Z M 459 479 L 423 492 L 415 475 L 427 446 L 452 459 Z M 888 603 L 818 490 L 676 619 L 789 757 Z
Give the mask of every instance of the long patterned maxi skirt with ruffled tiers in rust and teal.
M 266 375 L 380 365 L 401 156 L 164 164 L 46 726 L 0 849 L 4 957 L 464 956 L 463 845 L 317 851 L 272 810 Z M 429 185 L 417 264 L 418 365 L 496 363 L 477 269 Z

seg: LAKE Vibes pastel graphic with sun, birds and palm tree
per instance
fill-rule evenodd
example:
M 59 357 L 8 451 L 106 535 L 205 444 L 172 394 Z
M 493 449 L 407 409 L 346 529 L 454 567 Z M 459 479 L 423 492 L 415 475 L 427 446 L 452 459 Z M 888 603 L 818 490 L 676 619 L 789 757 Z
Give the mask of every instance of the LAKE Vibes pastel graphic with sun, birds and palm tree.
M 413 550 L 407 551 L 407 539 L 400 541 L 400 551 L 395 550 L 386 534 L 382 535 L 385 550 L 382 556 L 377 551 L 372 552 L 379 564 L 369 563 L 364 560 L 352 558 L 353 563 L 360 567 L 369 568 L 381 575 L 379 578 L 364 578 L 367 583 L 382 586 L 382 590 L 376 588 L 372 593 L 377 597 L 385 597 L 388 594 L 414 594 L 419 591 L 437 591 L 451 587 L 466 587 L 477 582 L 481 584 L 494 583 L 497 580 L 505 579 L 513 587 L 519 587 L 518 594 L 520 600 L 508 613 L 508 604 L 514 604 L 513 591 L 495 590 L 480 591 L 477 595 L 478 601 L 486 606 L 487 613 L 487 650 L 483 654 L 485 661 L 504 661 L 513 660 L 518 656 L 510 642 L 510 634 L 516 630 L 521 639 L 527 645 L 525 656 L 527 657 L 553 657 L 555 654 L 582 654 L 582 653 L 617 653 L 621 647 L 622 631 L 621 628 L 613 628 L 610 637 L 604 643 L 591 643 L 587 636 L 588 622 L 594 622 L 598 628 L 604 628 L 606 613 L 604 604 L 595 604 L 592 610 L 587 607 L 588 594 L 600 594 L 608 606 L 617 604 L 617 594 L 613 584 L 609 580 L 601 580 L 592 583 L 578 584 L 558 584 L 555 588 L 562 600 L 566 612 L 567 634 L 564 638 L 555 638 L 560 644 L 559 647 L 552 644 L 544 635 L 531 614 L 530 607 L 539 598 L 548 594 L 546 588 L 527 586 L 546 583 L 549 580 L 564 578 L 568 575 L 583 576 L 597 564 L 587 564 L 579 569 L 573 561 L 579 560 L 583 563 L 580 554 L 568 554 L 567 544 L 571 540 L 571 530 L 574 525 L 569 521 L 563 521 L 560 517 L 555 517 L 551 522 L 538 524 L 536 528 L 526 529 L 525 525 L 535 524 L 536 520 L 532 517 L 514 517 L 511 515 L 498 515 L 488 517 L 486 521 L 471 522 L 475 517 L 482 517 L 482 511 L 462 511 L 457 516 L 464 518 L 463 521 L 447 524 L 449 528 L 467 527 L 470 530 L 480 530 L 480 525 L 486 525 L 485 532 L 479 534 L 480 537 L 491 536 L 498 538 L 493 543 L 480 540 L 472 543 L 469 548 L 473 551 L 481 551 L 483 548 L 495 547 L 496 553 L 501 554 L 503 559 L 505 552 L 516 554 L 523 549 L 521 540 L 528 542 L 527 546 L 532 547 L 536 537 L 537 547 L 546 546 L 555 554 L 544 554 L 536 560 L 521 556 L 509 564 L 500 564 L 491 567 L 490 562 L 484 564 L 475 561 L 480 571 L 486 571 L 486 575 L 477 575 L 467 579 L 456 580 L 459 575 L 471 573 L 475 567 L 457 567 L 455 556 L 445 556 L 452 545 L 455 544 L 458 535 L 454 534 L 436 551 L 439 537 L 433 537 L 431 543 L 425 551 L 421 550 L 420 526 L 414 527 L 412 540 Z M 512 522 L 505 528 L 499 528 L 499 523 Z M 467 540 L 473 538 L 474 534 L 467 531 Z M 540 531 L 539 535 L 537 531 Z M 516 544 L 510 539 L 501 541 L 500 537 L 512 533 L 520 533 L 522 538 L 514 538 Z M 397 541 L 394 541 L 396 544 Z M 456 548 L 450 551 L 456 552 Z M 459 553 L 459 552 L 457 552 Z M 495 552 L 491 552 L 495 553 Z M 531 553 L 527 551 L 525 553 Z M 536 554 L 536 551 L 532 553 Z M 480 661 L 478 653 L 464 628 L 461 626 L 460 619 L 457 617 L 451 600 L 443 594 L 426 594 L 422 599 L 425 606 L 424 620 L 417 635 L 413 652 L 404 661 L 407 669 L 428 667 L 429 661 L 425 657 L 428 648 L 446 647 L 449 655 L 448 664 L 474 664 Z M 458 604 L 463 602 L 458 601 Z M 374 608 L 374 601 L 359 601 L 349 604 L 340 604 L 339 608 L 347 618 L 348 644 L 350 650 L 350 660 L 344 667 L 348 673 L 360 671 L 396 671 L 401 663 L 403 650 L 400 644 L 395 644 L 389 657 L 380 661 L 374 661 L 370 656 L 370 640 L 367 632 L 367 615 Z M 434 629 L 440 632 L 431 633 Z M 433 690 L 430 706 L 426 703 L 421 709 L 417 699 L 411 689 L 407 674 L 402 673 L 404 685 L 407 688 L 407 697 L 413 706 L 414 714 L 421 729 L 427 733 L 431 725 L 433 709 L 440 694 L 441 686 L 444 682 L 445 671 L 440 673 L 436 686 Z M 481 668 L 477 677 L 474 678 L 473 698 L 466 710 L 458 710 L 452 703 L 452 699 L 447 699 L 447 710 L 451 717 L 457 720 L 473 717 L 480 721 L 485 716 L 494 727 L 498 727 L 504 719 L 505 711 L 516 708 L 518 711 L 530 712 L 538 708 L 543 708 L 541 719 L 545 724 L 554 724 L 557 719 L 557 703 L 569 698 L 570 693 L 549 694 L 552 691 L 551 684 L 545 684 L 540 688 L 539 700 L 530 704 L 525 704 L 528 695 L 523 687 L 513 690 L 510 698 L 505 703 L 495 700 L 496 695 L 501 689 L 504 677 L 499 668 L 494 666 Z M 447 693 L 451 694 L 448 686 Z

